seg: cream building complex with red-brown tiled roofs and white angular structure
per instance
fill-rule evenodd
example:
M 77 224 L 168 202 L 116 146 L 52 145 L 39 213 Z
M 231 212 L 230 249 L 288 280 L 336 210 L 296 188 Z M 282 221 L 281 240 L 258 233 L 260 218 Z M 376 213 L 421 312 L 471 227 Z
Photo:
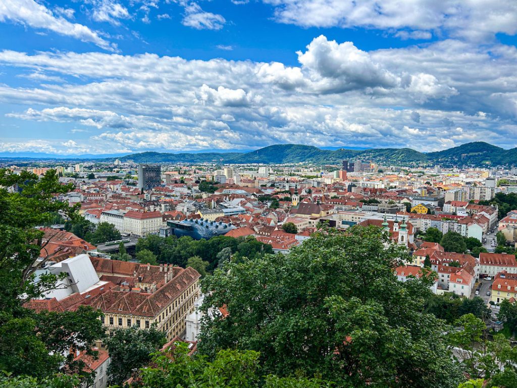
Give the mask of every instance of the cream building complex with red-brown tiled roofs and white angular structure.
M 103 312 L 108 331 L 132 326 L 156 328 L 168 340 L 184 337 L 186 318 L 200 296 L 200 274 L 191 267 L 149 265 L 82 254 L 44 268 L 66 272 L 70 287 L 27 302 L 37 311 L 75 310 L 81 305 Z

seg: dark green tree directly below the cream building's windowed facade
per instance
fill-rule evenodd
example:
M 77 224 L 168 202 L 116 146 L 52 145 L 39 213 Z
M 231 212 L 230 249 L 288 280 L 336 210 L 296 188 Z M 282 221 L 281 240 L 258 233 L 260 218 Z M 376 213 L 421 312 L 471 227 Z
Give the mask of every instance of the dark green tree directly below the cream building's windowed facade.
M 108 367 L 110 384 L 122 385 L 136 370 L 151 361 L 151 353 L 165 344 L 165 334 L 155 327 L 141 330 L 132 326 L 116 329 L 104 342 L 111 357 Z

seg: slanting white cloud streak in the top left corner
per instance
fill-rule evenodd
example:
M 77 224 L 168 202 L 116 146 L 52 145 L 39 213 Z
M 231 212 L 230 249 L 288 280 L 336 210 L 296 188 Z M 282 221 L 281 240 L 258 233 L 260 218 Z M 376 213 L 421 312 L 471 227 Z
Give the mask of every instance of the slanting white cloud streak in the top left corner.
M 102 49 L 115 51 L 116 45 L 99 36 L 85 25 L 70 23 L 34 0 L 3 0 L 0 2 L 0 22 L 11 20 L 33 28 L 43 28 L 59 35 L 70 36 L 83 42 L 94 43 Z

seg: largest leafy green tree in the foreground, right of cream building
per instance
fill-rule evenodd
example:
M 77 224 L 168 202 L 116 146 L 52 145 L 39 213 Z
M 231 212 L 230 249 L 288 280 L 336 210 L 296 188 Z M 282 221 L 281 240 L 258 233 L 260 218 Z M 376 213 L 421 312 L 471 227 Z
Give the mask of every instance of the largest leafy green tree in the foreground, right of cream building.
M 202 309 L 229 315 L 205 314 L 199 351 L 254 350 L 265 374 L 303 370 L 339 386 L 456 386 L 445 327 L 423 312 L 434 280 L 399 282 L 406 259 L 381 228 L 356 226 L 317 232 L 287 255 L 227 262 L 204 279 Z

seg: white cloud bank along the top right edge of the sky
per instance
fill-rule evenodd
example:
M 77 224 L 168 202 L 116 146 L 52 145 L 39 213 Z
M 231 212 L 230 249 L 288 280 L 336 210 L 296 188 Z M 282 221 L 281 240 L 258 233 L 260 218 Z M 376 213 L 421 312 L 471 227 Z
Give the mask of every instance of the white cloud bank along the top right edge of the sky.
M 401 38 L 443 30 L 468 39 L 517 33 L 514 0 L 263 0 L 280 23 L 302 27 L 400 29 Z M 409 31 L 408 31 L 409 30 Z M 427 35 L 426 35 L 427 36 Z M 417 39 L 428 39 L 419 37 Z

